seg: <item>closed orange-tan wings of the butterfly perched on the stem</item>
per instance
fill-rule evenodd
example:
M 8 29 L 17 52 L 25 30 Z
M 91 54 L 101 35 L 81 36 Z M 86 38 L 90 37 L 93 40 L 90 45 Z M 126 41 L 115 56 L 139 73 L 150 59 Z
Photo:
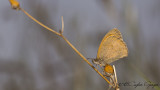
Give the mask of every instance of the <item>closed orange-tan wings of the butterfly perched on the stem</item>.
M 97 59 L 104 60 L 105 63 L 109 64 L 127 55 L 128 49 L 120 31 L 113 29 L 103 38 L 97 52 Z

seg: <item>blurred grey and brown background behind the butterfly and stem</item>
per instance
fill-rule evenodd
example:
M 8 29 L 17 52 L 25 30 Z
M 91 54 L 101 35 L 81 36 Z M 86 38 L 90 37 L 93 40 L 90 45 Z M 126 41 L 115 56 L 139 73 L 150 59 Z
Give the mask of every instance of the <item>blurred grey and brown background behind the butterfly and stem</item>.
M 23 9 L 64 35 L 86 57 L 96 58 L 104 35 L 118 28 L 129 56 L 116 66 L 121 90 L 160 86 L 160 0 L 19 0 Z M 23 12 L 0 5 L 0 90 L 107 90 L 104 81 L 60 37 Z M 145 76 L 144 76 L 145 75 Z M 129 83 L 131 86 L 124 83 Z

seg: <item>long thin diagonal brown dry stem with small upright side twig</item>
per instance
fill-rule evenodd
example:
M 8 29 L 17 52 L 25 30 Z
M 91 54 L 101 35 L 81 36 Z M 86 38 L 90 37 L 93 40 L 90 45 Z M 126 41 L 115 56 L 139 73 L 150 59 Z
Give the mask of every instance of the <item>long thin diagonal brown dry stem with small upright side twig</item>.
M 111 83 L 108 81 L 108 79 L 107 79 L 106 77 L 104 77 L 104 76 L 67 40 L 66 37 L 63 36 L 63 28 L 64 28 L 63 17 L 62 17 L 62 31 L 61 31 L 61 33 L 58 33 L 58 32 L 56 32 L 55 30 L 53 30 L 53 29 L 47 27 L 46 25 L 42 24 L 41 22 L 39 22 L 37 19 L 35 19 L 35 18 L 32 17 L 29 13 L 27 13 L 24 9 L 20 8 L 20 10 L 21 10 L 22 12 L 24 12 L 24 13 L 25 13 L 29 18 L 31 18 L 33 21 L 35 21 L 36 23 L 38 23 L 39 25 L 41 25 L 42 27 L 44 27 L 44 28 L 46 28 L 47 30 L 49 30 L 49 31 L 57 34 L 57 35 L 60 36 L 60 37 L 62 37 L 62 38 L 69 44 L 69 46 L 72 47 L 72 49 L 73 49 L 74 51 L 76 51 L 76 53 L 83 58 L 83 60 L 84 60 L 85 62 L 87 62 L 106 82 L 108 82 L 108 83 L 111 85 Z

